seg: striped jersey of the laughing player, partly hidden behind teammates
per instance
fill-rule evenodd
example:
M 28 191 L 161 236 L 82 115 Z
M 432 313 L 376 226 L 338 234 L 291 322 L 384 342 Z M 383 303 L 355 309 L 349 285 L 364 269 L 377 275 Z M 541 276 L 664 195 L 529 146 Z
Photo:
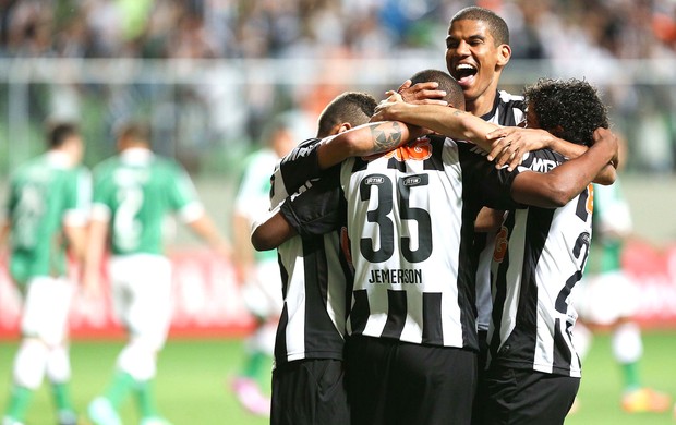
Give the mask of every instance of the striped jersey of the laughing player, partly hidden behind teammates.
M 481 117 L 482 120 L 502 126 L 515 126 L 526 119 L 526 102 L 523 96 L 498 92 L 491 112 Z M 488 330 L 491 309 L 491 260 L 495 246 L 494 233 L 476 233 L 475 255 L 476 268 L 476 326 L 479 330 Z

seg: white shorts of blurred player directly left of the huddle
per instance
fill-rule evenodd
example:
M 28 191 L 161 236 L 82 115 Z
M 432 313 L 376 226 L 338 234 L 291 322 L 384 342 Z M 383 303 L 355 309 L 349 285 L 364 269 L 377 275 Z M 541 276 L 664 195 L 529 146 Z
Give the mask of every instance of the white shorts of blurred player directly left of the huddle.
M 281 314 L 281 276 L 277 260 L 259 262 L 252 279 L 242 287 L 246 308 L 259 318 L 276 318 Z

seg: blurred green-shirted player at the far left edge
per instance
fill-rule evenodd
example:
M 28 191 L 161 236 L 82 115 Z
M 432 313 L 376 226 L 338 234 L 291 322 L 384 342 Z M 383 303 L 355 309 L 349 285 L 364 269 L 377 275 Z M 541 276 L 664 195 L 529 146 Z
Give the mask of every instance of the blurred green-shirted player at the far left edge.
M 67 254 L 79 262 L 84 253 L 90 181 L 80 166 L 84 147 L 77 127 L 53 123 L 46 136 L 48 151 L 12 175 L 2 231 L 10 238 L 10 275 L 24 296 L 22 341 L 3 425 L 22 423 L 45 376 L 58 423 L 77 422 L 69 393 L 68 315 L 74 283 Z

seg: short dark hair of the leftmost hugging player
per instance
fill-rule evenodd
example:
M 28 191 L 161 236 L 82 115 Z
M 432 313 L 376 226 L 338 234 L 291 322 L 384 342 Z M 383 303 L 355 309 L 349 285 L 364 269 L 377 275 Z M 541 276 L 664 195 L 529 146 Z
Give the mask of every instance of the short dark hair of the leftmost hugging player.
M 346 92 L 331 100 L 319 116 L 317 137 L 327 137 L 331 129 L 348 122 L 352 126 L 365 124 L 375 111 L 377 101 L 363 92 Z

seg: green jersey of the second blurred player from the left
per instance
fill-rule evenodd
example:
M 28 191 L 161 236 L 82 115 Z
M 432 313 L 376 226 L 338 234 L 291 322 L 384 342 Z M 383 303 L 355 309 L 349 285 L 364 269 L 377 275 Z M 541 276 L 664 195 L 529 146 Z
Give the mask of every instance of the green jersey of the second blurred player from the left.
M 109 220 L 113 255 L 161 255 L 167 216 L 191 221 L 203 211 L 185 170 L 148 149 L 126 149 L 94 170 L 93 215 Z

